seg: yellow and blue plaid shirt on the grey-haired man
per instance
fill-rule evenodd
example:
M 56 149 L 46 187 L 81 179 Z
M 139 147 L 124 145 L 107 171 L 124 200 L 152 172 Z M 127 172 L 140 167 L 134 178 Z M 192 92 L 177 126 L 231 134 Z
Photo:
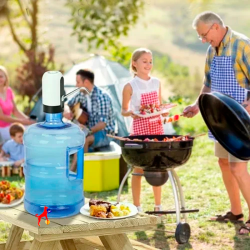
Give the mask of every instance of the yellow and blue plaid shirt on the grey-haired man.
M 204 84 L 211 88 L 210 66 L 213 57 L 230 56 L 231 47 L 232 63 L 237 82 L 241 87 L 250 89 L 250 39 L 243 34 L 231 30 L 229 27 L 227 28 L 228 31 L 218 47 L 218 54 L 216 55 L 214 47 L 211 45 L 208 47 Z

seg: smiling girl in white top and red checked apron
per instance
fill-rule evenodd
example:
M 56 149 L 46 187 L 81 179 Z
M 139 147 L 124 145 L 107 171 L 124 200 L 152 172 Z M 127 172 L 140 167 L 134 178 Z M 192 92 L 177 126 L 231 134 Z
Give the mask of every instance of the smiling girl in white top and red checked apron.
M 161 84 L 157 78 L 150 76 L 152 69 L 152 52 L 140 48 L 134 51 L 131 70 L 135 77 L 124 86 L 122 115 L 133 118 L 131 135 L 163 134 L 161 117 L 139 118 L 134 111 L 139 111 L 143 104 L 161 104 Z M 167 116 L 168 114 L 163 114 Z M 141 168 L 134 168 L 134 173 L 143 173 Z M 161 187 L 153 187 L 155 211 L 161 210 Z M 132 175 L 132 194 L 134 205 L 141 211 L 140 205 L 141 176 Z

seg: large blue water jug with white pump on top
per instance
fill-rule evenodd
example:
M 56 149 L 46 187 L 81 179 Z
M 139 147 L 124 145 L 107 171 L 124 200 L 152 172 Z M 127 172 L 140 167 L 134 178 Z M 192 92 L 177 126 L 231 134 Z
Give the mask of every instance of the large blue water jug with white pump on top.
M 75 124 L 62 121 L 63 76 L 58 71 L 43 75 L 45 122 L 31 125 L 24 134 L 24 207 L 48 217 L 62 218 L 79 213 L 84 205 L 83 146 L 85 134 Z M 77 171 L 70 171 L 70 155 L 77 154 Z

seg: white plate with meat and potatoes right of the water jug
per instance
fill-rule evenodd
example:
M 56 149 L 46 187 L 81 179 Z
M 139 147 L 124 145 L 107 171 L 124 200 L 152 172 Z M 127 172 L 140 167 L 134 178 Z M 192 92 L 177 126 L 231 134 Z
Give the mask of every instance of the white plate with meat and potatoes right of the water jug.
M 99 220 L 117 220 L 134 216 L 138 210 L 131 203 L 90 200 L 81 208 L 80 213 Z

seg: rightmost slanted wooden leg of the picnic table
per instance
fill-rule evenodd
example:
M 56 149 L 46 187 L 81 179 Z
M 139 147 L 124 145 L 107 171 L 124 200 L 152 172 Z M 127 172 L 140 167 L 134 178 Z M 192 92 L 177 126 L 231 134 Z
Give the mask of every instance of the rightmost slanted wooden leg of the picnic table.
M 126 234 L 99 236 L 102 244 L 107 250 L 133 250 L 133 246 Z

